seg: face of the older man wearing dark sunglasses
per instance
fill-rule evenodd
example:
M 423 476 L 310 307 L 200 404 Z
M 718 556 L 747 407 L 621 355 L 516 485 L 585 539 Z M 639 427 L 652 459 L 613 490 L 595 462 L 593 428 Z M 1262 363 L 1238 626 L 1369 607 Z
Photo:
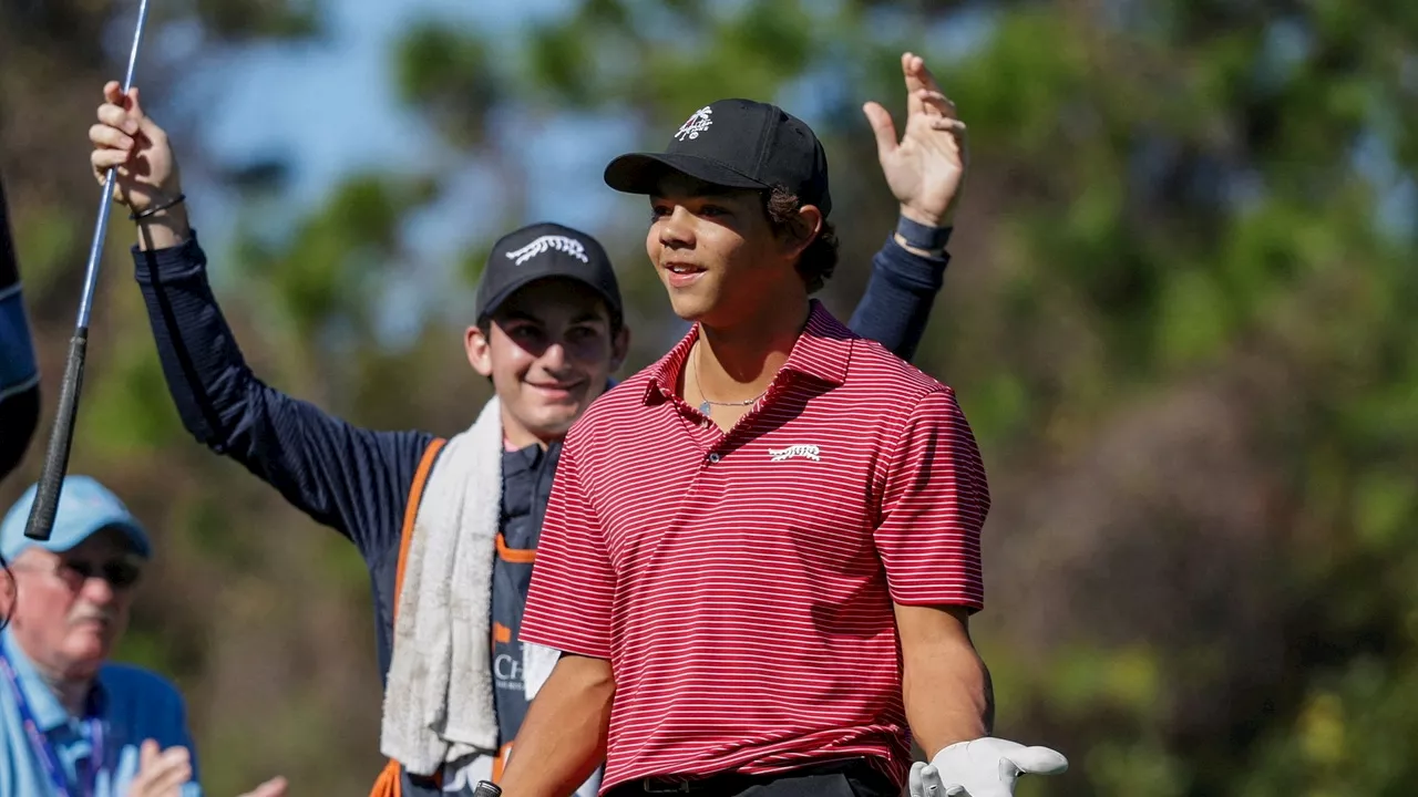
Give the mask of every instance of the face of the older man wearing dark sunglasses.
M 52 676 L 92 678 L 128 627 L 140 562 L 118 529 L 64 553 L 31 546 L 16 556 L 10 623 L 26 655 Z

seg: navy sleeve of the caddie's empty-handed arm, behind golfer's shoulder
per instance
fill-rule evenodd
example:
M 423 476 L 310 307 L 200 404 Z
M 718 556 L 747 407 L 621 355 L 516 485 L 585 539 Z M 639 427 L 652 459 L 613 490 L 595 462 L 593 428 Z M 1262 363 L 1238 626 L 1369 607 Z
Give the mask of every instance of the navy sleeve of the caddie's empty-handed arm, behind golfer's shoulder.
M 852 332 L 876 340 L 903 360 L 916 356 L 930 306 L 944 282 L 949 257 L 925 257 L 902 248 L 895 237 L 872 258 L 866 292 L 848 322 Z

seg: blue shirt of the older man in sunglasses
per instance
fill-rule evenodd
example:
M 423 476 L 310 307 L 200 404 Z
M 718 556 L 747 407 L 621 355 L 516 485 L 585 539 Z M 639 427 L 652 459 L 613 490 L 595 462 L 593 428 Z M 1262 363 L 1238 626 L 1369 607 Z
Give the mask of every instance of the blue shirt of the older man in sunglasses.
M 69 783 L 69 793 L 84 794 L 78 766 L 94 752 L 88 723 L 71 716 L 58 698 L 40 679 L 40 674 L 20 650 L 10 631 L 0 632 L 0 645 L 16 671 L 24 699 L 35 723 L 50 740 Z M 99 671 L 96 706 L 102 722 L 102 753 L 95 797 L 123 797 L 138 774 L 138 750 L 145 739 L 156 739 L 163 749 L 180 745 L 193 754 L 193 781 L 183 797 L 201 797 L 197 784 L 197 754 L 187 732 L 187 709 L 182 695 L 163 678 L 118 664 Z M 0 797 L 45 797 L 54 783 L 35 754 L 20 719 L 20 705 L 10 684 L 0 676 L 0 723 L 4 725 L 0 752 Z M 88 770 L 88 763 L 84 763 Z

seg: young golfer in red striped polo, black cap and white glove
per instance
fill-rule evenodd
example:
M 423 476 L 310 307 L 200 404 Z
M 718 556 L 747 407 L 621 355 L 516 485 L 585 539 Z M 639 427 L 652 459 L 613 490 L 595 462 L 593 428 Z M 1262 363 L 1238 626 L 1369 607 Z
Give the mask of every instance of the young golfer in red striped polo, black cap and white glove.
M 506 797 L 603 757 L 615 797 L 895 797 L 913 737 L 932 786 L 974 797 L 1061 767 L 988 737 L 990 495 L 954 393 L 810 299 L 832 208 L 813 130 L 712 102 L 605 182 L 649 196 L 647 252 L 695 326 L 566 438 L 522 623 L 563 657 Z

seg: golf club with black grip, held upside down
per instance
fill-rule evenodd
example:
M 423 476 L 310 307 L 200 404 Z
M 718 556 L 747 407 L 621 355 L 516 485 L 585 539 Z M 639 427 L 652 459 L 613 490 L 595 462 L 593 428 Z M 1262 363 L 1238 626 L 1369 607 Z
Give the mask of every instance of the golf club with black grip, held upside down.
M 133 85 L 133 68 L 138 65 L 138 45 L 143 40 L 143 23 L 147 20 L 147 0 L 139 0 L 138 23 L 133 27 L 133 47 L 128 52 L 128 72 L 123 75 L 123 94 Z M 84 362 L 88 355 L 89 313 L 94 309 L 94 291 L 98 286 L 98 268 L 104 254 L 104 238 L 108 234 L 109 197 L 113 196 L 113 182 L 118 170 L 109 169 L 104 179 L 104 193 L 98 204 L 98 221 L 94 223 L 94 240 L 89 244 L 88 265 L 84 271 L 84 294 L 79 298 L 78 319 L 74 338 L 69 339 L 69 355 L 64 363 L 64 381 L 60 386 L 60 407 L 50 430 L 50 444 L 44 452 L 44 471 L 35 491 L 34 506 L 24 536 L 35 540 L 50 539 L 54 530 L 54 515 L 60 508 L 60 492 L 64 488 L 64 474 L 69 467 L 69 448 L 74 444 L 74 421 L 79 413 L 79 391 L 84 386 Z

